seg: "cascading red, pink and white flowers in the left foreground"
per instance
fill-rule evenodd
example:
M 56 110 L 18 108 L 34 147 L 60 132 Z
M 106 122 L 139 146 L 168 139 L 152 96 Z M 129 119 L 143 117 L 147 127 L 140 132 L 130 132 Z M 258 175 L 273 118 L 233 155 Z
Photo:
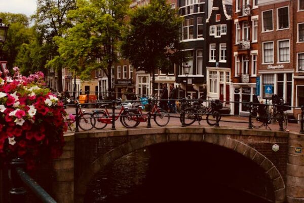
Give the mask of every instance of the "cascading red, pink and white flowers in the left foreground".
M 42 72 L 0 78 L 0 157 L 22 157 L 32 169 L 45 158 L 57 158 L 67 130 L 63 104 L 44 88 Z M 0 72 L 0 76 L 1 76 Z

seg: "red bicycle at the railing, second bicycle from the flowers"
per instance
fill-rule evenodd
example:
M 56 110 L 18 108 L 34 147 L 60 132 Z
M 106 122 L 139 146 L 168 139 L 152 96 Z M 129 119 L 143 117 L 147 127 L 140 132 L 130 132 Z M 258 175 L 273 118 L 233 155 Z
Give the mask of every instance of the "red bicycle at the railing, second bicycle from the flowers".
M 115 115 L 115 121 L 120 118 L 121 123 L 123 126 L 127 128 L 135 127 L 137 123 L 137 115 L 134 114 L 129 109 L 126 109 L 124 105 L 122 104 L 121 98 L 116 100 L 117 104 L 121 106 L 121 110 L 118 113 L 118 115 Z M 96 110 L 93 111 L 92 118 L 96 120 L 97 122 L 94 123 L 94 126 L 96 129 L 103 129 L 107 124 L 112 123 L 112 115 L 107 110 L 107 106 L 109 104 L 103 104 L 101 105 L 101 108 L 104 108 L 104 110 Z

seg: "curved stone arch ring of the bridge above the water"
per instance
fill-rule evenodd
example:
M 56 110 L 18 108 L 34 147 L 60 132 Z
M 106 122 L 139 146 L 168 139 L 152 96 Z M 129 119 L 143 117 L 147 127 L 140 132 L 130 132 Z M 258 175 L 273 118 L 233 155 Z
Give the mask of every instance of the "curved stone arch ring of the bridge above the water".
M 144 129 L 136 131 L 136 137 L 115 149 L 103 154 L 89 165 L 75 184 L 75 202 L 83 202 L 87 185 L 93 177 L 108 164 L 138 149 L 151 145 L 170 142 L 205 142 L 234 150 L 259 165 L 272 181 L 275 202 L 285 201 L 285 183 L 277 167 L 271 160 L 249 145 L 234 139 L 231 133 L 218 128 L 174 128 L 160 133 L 159 130 Z M 234 130 L 234 134 L 242 134 L 243 130 Z M 249 132 L 249 131 L 248 131 Z M 257 133 L 258 134 L 258 133 Z M 252 131 L 248 136 L 252 135 Z

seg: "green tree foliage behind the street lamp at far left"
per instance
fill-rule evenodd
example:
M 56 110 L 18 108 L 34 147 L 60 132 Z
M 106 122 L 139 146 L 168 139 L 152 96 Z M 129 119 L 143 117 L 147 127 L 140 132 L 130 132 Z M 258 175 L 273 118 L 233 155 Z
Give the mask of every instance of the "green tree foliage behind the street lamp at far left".
M 3 23 L 10 24 L 7 39 L 3 47 L 4 60 L 8 61 L 8 68 L 16 65 L 16 57 L 23 44 L 28 44 L 33 37 L 28 27 L 29 20 L 24 14 L 0 13 Z

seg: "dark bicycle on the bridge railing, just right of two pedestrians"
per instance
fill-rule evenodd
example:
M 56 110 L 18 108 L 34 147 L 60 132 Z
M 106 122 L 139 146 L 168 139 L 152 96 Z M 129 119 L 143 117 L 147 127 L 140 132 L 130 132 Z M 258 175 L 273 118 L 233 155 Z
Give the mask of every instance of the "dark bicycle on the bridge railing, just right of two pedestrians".
M 222 103 L 218 99 L 211 101 L 209 107 L 205 107 L 202 104 L 202 99 L 199 99 L 198 103 L 194 103 L 193 107 L 186 108 L 185 112 L 185 125 L 192 125 L 195 121 L 203 120 L 203 115 L 206 114 L 206 121 L 208 125 L 213 126 L 216 124 L 216 115 L 218 111 L 222 108 Z M 218 116 L 218 121 L 220 121 L 221 115 Z M 180 122 L 182 122 L 182 115 L 180 115 Z

